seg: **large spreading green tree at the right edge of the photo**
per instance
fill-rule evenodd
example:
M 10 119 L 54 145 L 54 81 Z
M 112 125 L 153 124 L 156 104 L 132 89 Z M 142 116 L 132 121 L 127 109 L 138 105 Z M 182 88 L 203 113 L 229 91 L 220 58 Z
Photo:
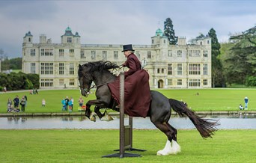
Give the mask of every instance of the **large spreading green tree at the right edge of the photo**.
M 228 82 L 255 86 L 256 28 L 235 34 L 230 41 L 231 47 L 222 56 Z

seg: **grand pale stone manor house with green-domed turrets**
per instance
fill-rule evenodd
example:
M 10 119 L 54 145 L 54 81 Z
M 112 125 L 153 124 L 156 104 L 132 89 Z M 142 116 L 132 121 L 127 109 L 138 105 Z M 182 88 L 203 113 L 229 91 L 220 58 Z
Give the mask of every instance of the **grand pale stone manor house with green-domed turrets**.
M 40 34 L 40 43 L 33 42 L 30 31 L 23 37 L 22 72 L 37 73 L 40 88 L 78 87 L 79 64 L 91 61 L 126 61 L 123 45 L 81 44 L 78 32 L 67 27 L 61 43 L 52 43 Z M 185 37 L 177 45 L 169 45 L 161 29 L 151 37 L 151 45 L 133 45 L 135 55 L 150 74 L 151 88 L 211 87 L 211 40 L 205 37 L 187 44 Z

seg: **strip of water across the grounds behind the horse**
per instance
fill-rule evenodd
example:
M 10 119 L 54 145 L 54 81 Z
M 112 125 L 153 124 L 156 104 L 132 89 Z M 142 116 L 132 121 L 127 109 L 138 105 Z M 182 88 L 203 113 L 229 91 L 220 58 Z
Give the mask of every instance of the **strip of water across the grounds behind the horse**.
M 0 117 L 0 129 L 119 129 L 119 116 L 106 122 L 97 117 L 96 122 L 84 116 L 61 117 Z M 255 114 L 211 115 L 206 118 L 219 120 L 218 129 L 256 129 Z M 125 125 L 128 124 L 125 117 Z M 133 129 L 156 129 L 150 118 L 133 117 Z M 171 116 L 169 120 L 176 129 L 195 129 L 189 118 Z

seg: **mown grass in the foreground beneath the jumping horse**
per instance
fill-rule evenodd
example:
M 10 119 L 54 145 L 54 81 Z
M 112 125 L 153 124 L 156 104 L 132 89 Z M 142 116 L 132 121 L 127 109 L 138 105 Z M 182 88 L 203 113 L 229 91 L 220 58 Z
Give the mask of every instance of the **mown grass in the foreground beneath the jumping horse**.
M 203 139 L 196 130 L 179 130 L 181 153 L 156 156 L 165 146 L 159 130 L 134 130 L 139 158 L 101 158 L 118 153 L 119 130 L 0 130 L 0 162 L 255 162 L 256 130 L 219 130 Z

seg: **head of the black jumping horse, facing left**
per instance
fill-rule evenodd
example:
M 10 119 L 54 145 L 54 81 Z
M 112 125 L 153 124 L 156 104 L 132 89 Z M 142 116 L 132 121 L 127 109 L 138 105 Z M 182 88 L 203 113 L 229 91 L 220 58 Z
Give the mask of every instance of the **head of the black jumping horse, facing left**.
M 78 76 L 79 76 L 79 87 L 82 96 L 87 97 L 90 93 L 90 87 L 91 83 L 93 82 L 93 77 L 90 73 L 91 67 L 89 67 L 87 64 L 80 65 L 79 64 L 79 70 L 78 70 Z

